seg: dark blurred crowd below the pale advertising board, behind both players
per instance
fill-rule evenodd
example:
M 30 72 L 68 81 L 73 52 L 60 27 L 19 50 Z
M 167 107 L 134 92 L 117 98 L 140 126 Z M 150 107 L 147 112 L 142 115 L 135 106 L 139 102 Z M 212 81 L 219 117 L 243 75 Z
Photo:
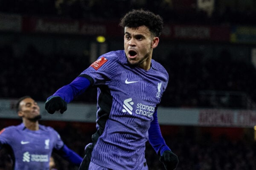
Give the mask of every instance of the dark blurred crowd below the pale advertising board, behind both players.
M 44 122 L 42 122 L 44 124 Z M 84 156 L 84 146 L 91 142 L 92 131 L 76 123 L 68 123 L 60 127 L 55 122 L 53 126 L 62 140 L 79 155 Z M 92 125 L 93 126 L 93 125 Z M 0 126 L 2 127 L 2 126 Z M 174 127 L 175 128 L 175 127 Z M 173 131 L 172 126 L 161 127 L 163 131 Z M 256 143 L 252 139 L 242 136 L 236 140 L 229 136 L 212 136 L 205 132 L 198 135 L 195 127 L 183 127 L 175 133 L 164 134 L 166 144 L 179 156 L 176 170 L 256 170 Z M 57 170 L 76 170 L 67 161 L 52 154 Z M 145 156 L 149 170 L 163 170 L 159 157 L 146 143 Z M 6 151 L 0 151 L 0 170 L 11 170 L 12 161 Z M 6 166 L 6 168 L 3 168 Z M 1 169 L 2 168 L 2 169 Z

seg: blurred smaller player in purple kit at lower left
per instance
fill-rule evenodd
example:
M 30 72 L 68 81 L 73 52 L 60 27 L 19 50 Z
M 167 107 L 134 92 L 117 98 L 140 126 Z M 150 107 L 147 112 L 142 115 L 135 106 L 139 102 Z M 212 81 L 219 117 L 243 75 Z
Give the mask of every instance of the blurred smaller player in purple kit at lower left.
M 40 108 L 30 96 L 20 98 L 16 104 L 22 123 L 9 126 L 0 132 L 0 147 L 12 148 L 15 170 L 49 170 L 52 150 L 69 161 L 80 166 L 82 158 L 70 150 L 52 127 L 40 125 Z

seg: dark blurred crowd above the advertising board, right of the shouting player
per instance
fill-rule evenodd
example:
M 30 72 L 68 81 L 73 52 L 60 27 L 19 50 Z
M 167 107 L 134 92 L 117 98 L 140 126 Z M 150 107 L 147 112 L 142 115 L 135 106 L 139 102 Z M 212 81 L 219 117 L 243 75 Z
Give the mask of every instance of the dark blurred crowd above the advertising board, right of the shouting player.
M 205 58 L 202 51 L 175 50 L 160 61 L 170 81 L 162 99 L 164 106 L 245 108 L 242 94 L 237 98 L 230 91 L 243 92 L 256 101 L 256 68 L 251 62 L 236 61 L 224 48 L 219 56 Z M 224 92 L 219 98 L 218 91 Z

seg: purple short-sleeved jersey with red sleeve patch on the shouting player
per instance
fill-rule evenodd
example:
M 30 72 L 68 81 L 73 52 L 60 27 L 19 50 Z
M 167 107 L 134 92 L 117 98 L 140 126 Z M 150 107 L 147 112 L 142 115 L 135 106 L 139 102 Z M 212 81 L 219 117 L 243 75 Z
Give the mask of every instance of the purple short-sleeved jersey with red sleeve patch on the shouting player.
M 111 51 L 80 76 L 91 78 L 98 88 L 101 134 L 91 161 L 113 170 L 143 169 L 148 129 L 169 79 L 165 68 L 152 59 L 145 71 L 129 65 L 124 51 Z

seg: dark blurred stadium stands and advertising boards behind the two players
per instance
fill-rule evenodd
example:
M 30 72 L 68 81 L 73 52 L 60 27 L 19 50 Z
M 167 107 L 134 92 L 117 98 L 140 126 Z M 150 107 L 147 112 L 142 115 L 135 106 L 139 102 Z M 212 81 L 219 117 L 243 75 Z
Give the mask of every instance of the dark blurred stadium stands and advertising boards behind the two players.
M 15 99 L 30 95 L 43 104 L 100 54 L 123 49 L 118 23 L 131 8 L 149 9 L 165 21 L 153 58 L 170 76 L 159 116 L 172 115 L 160 125 L 179 156 L 177 170 L 255 170 L 254 0 L 0 0 L 0 128 L 21 122 Z M 93 105 L 95 94 L 88 91 L 72 104 Z M 83 156 L 95 132 L 86 118 L 43 114 L 40 123 Z M 5 153 L 0 169 L 9 170 Z M 75 169 L 53 156 L 58 170 Z M 148 143 L 146 156 L 149 170 L 163 169 Z

